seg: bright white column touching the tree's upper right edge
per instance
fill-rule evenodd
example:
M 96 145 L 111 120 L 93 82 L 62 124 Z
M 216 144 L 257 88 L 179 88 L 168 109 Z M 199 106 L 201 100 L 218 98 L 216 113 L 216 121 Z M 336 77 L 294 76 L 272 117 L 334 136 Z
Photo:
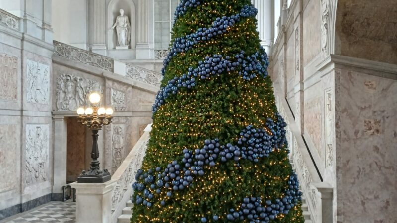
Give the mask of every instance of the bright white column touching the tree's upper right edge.
M 274 0 L 256 0 L 255 7 L 258 8 L 258 31 L 261 45 L 270 55 L 270 47 L 274 39 Z

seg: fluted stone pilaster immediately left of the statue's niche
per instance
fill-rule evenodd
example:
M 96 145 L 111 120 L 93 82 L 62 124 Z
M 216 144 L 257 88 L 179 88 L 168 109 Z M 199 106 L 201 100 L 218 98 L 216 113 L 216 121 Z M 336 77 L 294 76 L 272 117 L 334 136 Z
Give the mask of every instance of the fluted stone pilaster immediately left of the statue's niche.
M 88 45 L 92 52 L 106 56 L 105 0 L 88 1 Z

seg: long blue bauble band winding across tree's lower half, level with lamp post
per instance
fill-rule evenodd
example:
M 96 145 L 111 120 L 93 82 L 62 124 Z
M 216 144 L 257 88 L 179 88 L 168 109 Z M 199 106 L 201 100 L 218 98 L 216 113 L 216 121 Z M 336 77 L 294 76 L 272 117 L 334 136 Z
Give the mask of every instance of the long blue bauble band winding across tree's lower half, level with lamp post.
M 201 149 L 194 151 L 184 149 L 181 162 L 173 161 L 163 170 L 161 167 L 156 167 L 155 170 L 149 169 L 146 173 L 141 169 L 138 170 L 135 176 L 137 182 L 132 184 L 132 188 L 135 191 L 143 191 L 143 197 L 136 195 L 132 201 L 150 208 L 154 197 L 150 191 L 160 194 L 165 189 L 166 195 L 171 197 L 173 191 L 189 187 L 194 177 L 203 176 L 205 166 L 213 167 L 219 163 L 218 161 L 239 162 L 240 159 L 258 162 L 259 158 L 267 157 L 274 148 L 285 148 L 282 144 L 286 143 L 284 130 L 286 124 L 280 115 L 276 114 L 276 116 L 277 122 L 271 118 L 266 121 L 266 126 L 272 134 L 268 134 L 263 129 L 248 126 L 240 133 L 238 145 L 231 143 L 220 145 L 218 139 L 207 139 Z M 161 201 L 161 205 L 165 205 L 165 201 Z

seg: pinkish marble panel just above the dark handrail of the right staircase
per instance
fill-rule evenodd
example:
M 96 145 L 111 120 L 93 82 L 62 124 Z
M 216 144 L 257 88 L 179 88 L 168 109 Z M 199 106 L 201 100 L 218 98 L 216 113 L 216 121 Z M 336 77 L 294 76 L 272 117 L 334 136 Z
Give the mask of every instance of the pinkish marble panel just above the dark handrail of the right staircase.
M 305 101 L 304 111 L 305 130 L 312 139 L 320 157 L 324 159 L 321 149 L 321 98 L 315 97 Z

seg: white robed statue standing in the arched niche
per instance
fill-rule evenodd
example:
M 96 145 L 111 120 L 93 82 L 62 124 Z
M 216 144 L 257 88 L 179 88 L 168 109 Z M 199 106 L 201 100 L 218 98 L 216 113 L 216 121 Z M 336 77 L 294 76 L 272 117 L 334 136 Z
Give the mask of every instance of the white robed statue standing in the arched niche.
M 128 16 L 124 15 L 123 9 L 120 9 L 120 15 L 117 16 L 115 24 L 110 29 L 114 29 L 115 27 L 117 32 L 117 46 L 128 48 L 130 46 L 131 25 Z

